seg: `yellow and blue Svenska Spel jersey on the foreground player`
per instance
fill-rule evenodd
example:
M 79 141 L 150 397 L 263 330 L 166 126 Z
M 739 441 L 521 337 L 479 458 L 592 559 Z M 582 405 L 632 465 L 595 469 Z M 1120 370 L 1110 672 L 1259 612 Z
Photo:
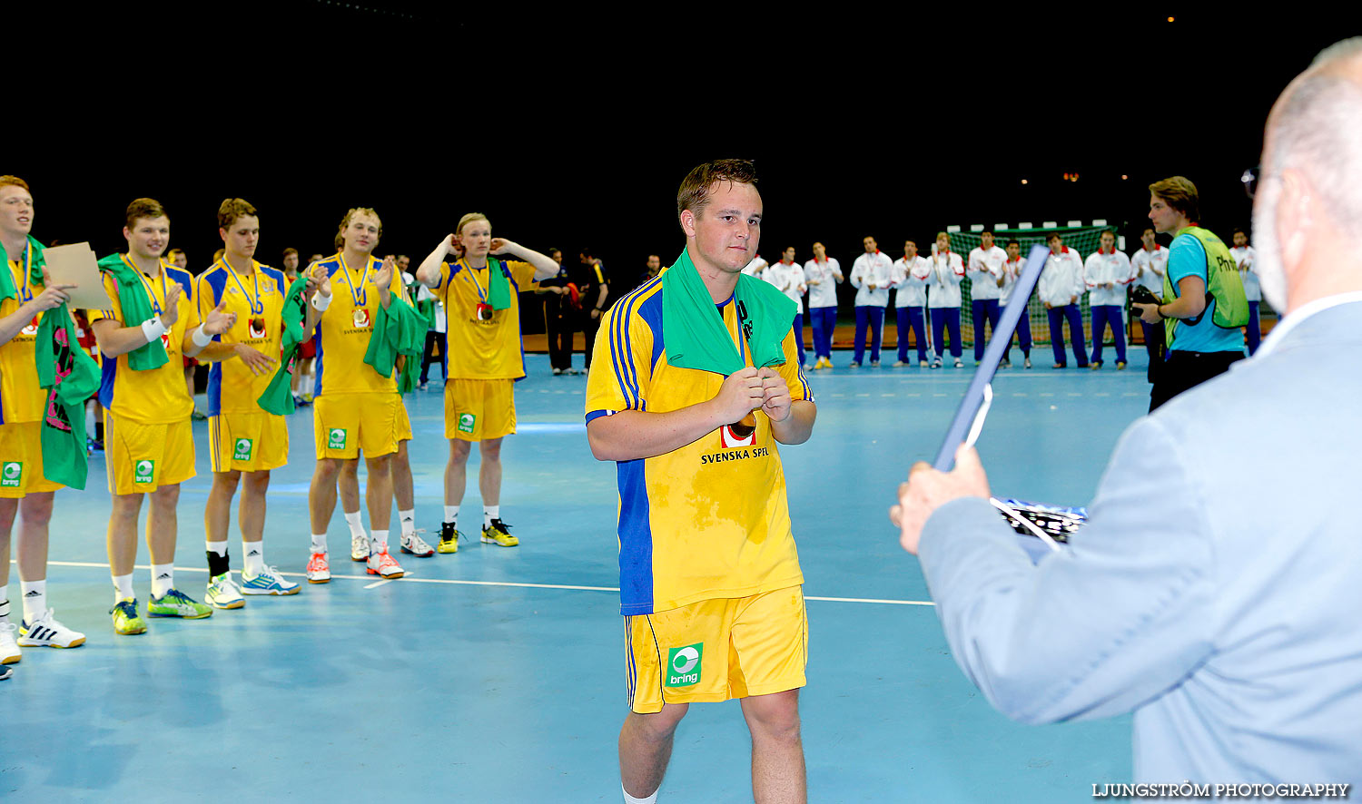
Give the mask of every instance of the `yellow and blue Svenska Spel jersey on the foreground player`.
M 722 312 L 737 339 L 734 306 L 729 299 Z M 612 306 L 601 332 L 587 380 L 588 423 L 620 411 L 677 411 L 714 399 L 723 384 L 719 374 L 667 362 L 661 278 Z M 750 366 L 746 343 L 737 343 Z M 776 370 L 790 399 L 812 401 L 793 328 L 783 348 Z M 760 409 L 753 415 L 756 430 L 748 438 L 725 426 L 670 453 L 618 463 L 621 614 L 804 582 L 771 420 Z

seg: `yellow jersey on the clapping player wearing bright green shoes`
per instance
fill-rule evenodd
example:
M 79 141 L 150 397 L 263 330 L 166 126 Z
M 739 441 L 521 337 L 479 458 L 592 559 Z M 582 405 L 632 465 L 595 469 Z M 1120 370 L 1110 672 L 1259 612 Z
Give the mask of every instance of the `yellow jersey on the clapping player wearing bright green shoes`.
M 117 361 L 101 361 L 104 380 L 99 384 L 99 403 L 114 418 L 124 418 L 139 424 L 184 422 L 193 412 L 193 399 L 184 384 L 184 354 L 180 347 L 184 344 L 184 333 L 199 325 L 192 299 L 193 276 L 165 260 L 161 260 L 159 276 L 147 276 L 127 256 L 123 257 L 123 261 L 142 278 L 142 288 L 151 303 L 153 316 L 159 316 L 165 310 L 166 291 L 173 283 L 180 283 L 184 292 L 180 294 L 180 317 L 176 318 L 170 331 L 161 336 L 161 346 L 166 348 L 169 361 L 159 369 L 148 371 L 133 371 L 125 354 L 118 355 Z M 118 326 L 140 326 L 143 324 L 123 317 L 118 282 L 113 275 L 104 275 L 104 290 L 109 294 L 109 302 L 113 307 L 90 310 L 91 325 L 101 318 L 116 321 Z

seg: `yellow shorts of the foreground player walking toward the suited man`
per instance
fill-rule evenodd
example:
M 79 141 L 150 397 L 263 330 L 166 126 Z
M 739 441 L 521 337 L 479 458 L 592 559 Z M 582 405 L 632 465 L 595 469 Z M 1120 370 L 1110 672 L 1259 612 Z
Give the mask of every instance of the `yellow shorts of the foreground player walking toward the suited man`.
M 785 692 L 805 684 L 809 618 L 804 588 L 701 600 L 624 618 L 629 709 L 707 703 Z

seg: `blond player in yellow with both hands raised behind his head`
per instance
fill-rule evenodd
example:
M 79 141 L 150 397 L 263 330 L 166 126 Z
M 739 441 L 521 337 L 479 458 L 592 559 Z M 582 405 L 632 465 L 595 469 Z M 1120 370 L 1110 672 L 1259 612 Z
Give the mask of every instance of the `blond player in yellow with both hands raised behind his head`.
M 463 256 L 449 263 L 460 246 Z M 489 258 L 501 254 L 516 258 Z M 524 377 L 519 291 L 557 273 L 558 264 L 546 254 L 493 238 L 492 222 L 479 212 L 464 215 L 417 269 L 417 279 L 444 305 L 448 324 L 444 437 L 449 439 L 449 463 L 444 468 L 440 552 L 459 550 L 459 505 L 473 442 L 478 442 L 482 463 L 482 540 L 501 547 L 520 543 L 501 521 L 501 439 L 515 433 L 512 386 Z

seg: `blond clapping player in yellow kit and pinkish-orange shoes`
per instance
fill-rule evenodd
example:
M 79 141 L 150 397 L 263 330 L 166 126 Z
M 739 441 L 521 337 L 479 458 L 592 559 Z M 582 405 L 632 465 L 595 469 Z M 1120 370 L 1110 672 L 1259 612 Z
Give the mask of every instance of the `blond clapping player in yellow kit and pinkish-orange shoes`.
M 336 478 L 342 467 L 358 468 L 364 453 L 369 480 L 369 537 L 351 537 L 350 558 L 365 560 L 366 571 L 400 578 L 402 566 L 388 552 L 392 518 L 392 456 L 398 442 L 411 438 L 411 423 L 398 395 L 395 377 L 383 377 L 364 362 L 379 310 L 403 298 L 402 275 L 390 257 L 381 264 L 373 249 L 383 234 L 377 212 L 350 210 L 340 222 L 338 254 L 313 265 L 321 282 L 312 297 L 308 328 L 316 321 L 316 375 L 313 438 L 317 468 L 312 475 L 308 507 L 312 518 L 312 555 L 308 581 L 331 580 L 327 526 L 336 506 Z M 320 316 L 320 318 L 319 318 Z M 366 554 L 366 555 L 365 555 Z

